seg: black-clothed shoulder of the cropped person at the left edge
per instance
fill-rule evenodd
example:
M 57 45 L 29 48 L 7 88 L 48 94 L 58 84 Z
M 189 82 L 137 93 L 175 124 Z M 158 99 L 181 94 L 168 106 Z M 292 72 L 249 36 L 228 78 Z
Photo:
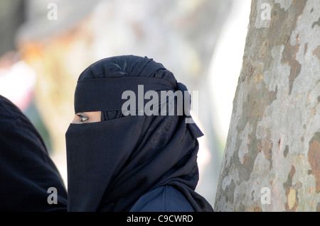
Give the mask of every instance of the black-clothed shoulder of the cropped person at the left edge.
M 0 96 L 0 211 L 66 211 L 67 191 L 41 136 Z M 57 204 L 48 203 L 56 188 Z

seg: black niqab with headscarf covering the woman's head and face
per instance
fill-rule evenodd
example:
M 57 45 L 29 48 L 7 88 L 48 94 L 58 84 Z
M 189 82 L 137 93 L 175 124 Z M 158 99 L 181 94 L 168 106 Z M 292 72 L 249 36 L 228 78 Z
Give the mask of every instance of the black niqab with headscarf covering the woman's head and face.
M 194 210 L 212 211 L 194 191 L 201 130 L 186 123 L 186 115 L 124 116 L 121 94 L 137 94 L 139 84 L 144 93 L 186 90 L 148 57 L 110 57 L 80 74 L 75 113 L 102 111 L 102 121 L 70 124 L 66 132 L 68 210 L 127 211 L 144 193 L 169 185 L 183 193 Z

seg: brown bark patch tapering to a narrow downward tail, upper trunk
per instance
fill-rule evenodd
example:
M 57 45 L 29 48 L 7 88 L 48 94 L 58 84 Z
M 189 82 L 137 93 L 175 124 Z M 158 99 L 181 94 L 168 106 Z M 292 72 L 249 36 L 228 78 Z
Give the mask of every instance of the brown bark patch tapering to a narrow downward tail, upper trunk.
M 300 45 L 286 45 L 282 52 L 282 64 L 289 64 L 289 94 L 291 94 L 294 79 L 298 77 L 301 72 L 301 64 L 296 60 L 296 55 Z

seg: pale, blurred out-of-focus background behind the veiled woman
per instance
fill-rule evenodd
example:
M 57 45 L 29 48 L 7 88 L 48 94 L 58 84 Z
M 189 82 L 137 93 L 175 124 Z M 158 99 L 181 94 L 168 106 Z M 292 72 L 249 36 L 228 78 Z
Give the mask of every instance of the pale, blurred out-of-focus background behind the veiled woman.
M 198 91 L 196 191 L 213 205 L 251 0 L 0 0 L 0 95 L 30 118 L 67 184 L 65 131 L 80 73 L 114 55 L 153 58 Z M 192 114 L 192 112 L 191 112 Z M 1 125 L 0 125 L 1 126 Z

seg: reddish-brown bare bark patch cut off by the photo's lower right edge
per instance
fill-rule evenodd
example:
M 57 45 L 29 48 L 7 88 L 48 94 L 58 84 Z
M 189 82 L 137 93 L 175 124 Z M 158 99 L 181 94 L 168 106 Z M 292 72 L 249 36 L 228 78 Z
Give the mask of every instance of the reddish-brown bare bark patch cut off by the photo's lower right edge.
M 311 174 L 316 179 L 316 193 L 320 192 L 320 132 L 316 132 L 309 142 L 308 161 L 311 166 Z

